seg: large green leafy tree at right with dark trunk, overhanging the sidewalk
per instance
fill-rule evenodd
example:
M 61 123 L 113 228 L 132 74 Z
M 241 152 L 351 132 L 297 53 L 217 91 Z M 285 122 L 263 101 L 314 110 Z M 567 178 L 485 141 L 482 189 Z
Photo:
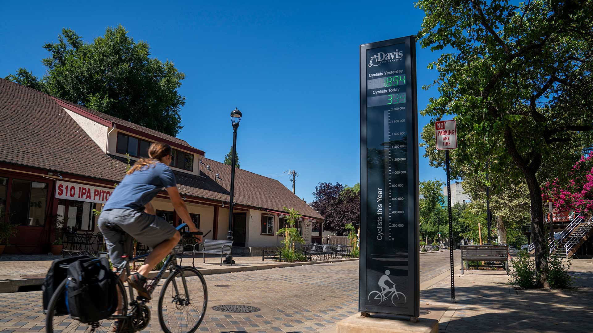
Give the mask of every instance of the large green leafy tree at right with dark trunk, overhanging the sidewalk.
M 454 114 L 457 164 L 523 178 L 530 194 L 538 286 L 549 287 L 540 182 L 563 174 L 593 129 L 593 1 L 420 0 L 422 47 L 440 96 L 423 115 Z M 450 51 L 449 51 L 450 50 Z M 502 143 L 499 144 L 499 143 Z M 562 158 L 558 158 L 562 156 Z M 511 167 L 511 165 L 513 167 Z

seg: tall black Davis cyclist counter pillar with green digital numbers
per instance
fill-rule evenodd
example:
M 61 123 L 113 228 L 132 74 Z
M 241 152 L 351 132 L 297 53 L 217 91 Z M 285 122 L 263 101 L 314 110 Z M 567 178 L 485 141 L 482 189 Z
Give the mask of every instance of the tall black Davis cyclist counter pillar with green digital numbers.
M 413 36 L 361 45 L 359 311 L 419 316 Z

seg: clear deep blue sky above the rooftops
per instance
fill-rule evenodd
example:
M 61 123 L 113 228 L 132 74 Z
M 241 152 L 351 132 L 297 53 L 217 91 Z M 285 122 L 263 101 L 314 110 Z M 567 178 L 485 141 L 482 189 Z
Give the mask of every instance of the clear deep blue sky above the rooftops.
M 47 41 L 63 27 L 85 41 L 122 24 L 153 57 L 186 74 L 179 137 L 223 161 L 232 144 L 229 113 L 243 112 L 241 168 L 262 175 L 295 169 L 297 195 L 313 200 L 321 181 L 353 185 L 359 167 L 359 44 L 416 34 L 424 13 L 412 1 L 18 2 L 3 5 L 0 76 L 19 67 L 42 76 Z M 417 45 L 418 107 L 436 89 L 426 65 L 438 54 Z M 419 129 L 429 119 L 419 118 Z M 420 180 L 445 180 L 420 149 Z M 288 175 L 273 176 L 291 187 Z

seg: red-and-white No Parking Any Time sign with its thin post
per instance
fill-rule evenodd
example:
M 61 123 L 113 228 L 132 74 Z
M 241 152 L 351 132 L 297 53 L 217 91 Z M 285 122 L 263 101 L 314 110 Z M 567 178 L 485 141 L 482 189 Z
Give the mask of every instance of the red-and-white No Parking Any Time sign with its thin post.
M 451 211 L 451 177 L 449 176 L 449 149 L 457 148 L 457 123 L 455 120 L 436 121 L 436 149 L 445 150 L 447 165 L 447 206 L 449 209 L 449 258 L 451 260 L 451 300 L 455 303 L 455 272 L 453 271 L 453 219 Z M 462 262 L 463 264 L 463 262 Z

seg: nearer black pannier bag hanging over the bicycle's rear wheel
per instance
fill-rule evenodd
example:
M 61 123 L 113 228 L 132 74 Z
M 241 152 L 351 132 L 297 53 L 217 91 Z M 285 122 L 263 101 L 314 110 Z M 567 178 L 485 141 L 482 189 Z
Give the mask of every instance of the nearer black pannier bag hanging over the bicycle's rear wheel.
M 84 324 L 109 318 L 117 309 L 117 277 L 107 258 L 72 262 L 66 281 L 66 306 Z

